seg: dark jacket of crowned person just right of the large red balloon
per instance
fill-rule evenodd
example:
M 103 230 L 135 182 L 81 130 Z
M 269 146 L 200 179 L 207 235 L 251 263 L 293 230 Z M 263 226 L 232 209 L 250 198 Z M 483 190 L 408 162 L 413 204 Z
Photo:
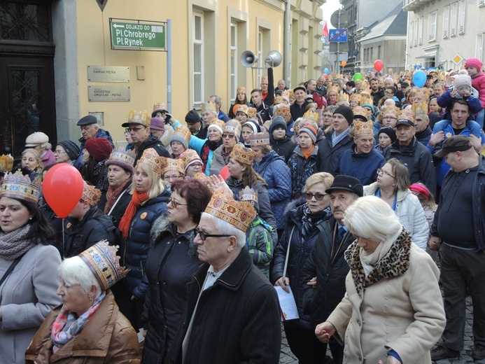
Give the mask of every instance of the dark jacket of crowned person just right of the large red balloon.
M 103 211 L 91 207 L 83 220 L 66 218 L 64 221 L 64 243 L 62 232 L 58 232 L 60 245 L 57 246 L 63 259 L 71 258 L 85 251 L 100 240 L 115 243 L 115 227 Z

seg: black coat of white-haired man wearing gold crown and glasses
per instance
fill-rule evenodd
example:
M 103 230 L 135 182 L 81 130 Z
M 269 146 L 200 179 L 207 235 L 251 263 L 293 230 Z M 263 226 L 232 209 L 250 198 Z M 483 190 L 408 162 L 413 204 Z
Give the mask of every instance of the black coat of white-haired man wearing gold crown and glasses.
M 204 284 L 204 263 L 187 285 L 187 311 L 168 363 L 182 363 L 182 343 Z M 253 265 L 246 247 L 213 286 L 202 292 L 185 364 L 278 364 L 281 323 L 278 297 Z

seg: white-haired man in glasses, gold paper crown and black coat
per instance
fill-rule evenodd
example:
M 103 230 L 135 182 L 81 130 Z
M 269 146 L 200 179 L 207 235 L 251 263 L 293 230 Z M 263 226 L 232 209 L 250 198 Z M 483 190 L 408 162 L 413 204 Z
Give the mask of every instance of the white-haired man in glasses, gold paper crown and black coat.
M 214 192 L 195 237 L 204 262 L 187 284 L 187 307 L 171 361 L 279 363 L 281 323 L 276 291 L 253 265 L 246 231 L 256 216 L 249 202 Z

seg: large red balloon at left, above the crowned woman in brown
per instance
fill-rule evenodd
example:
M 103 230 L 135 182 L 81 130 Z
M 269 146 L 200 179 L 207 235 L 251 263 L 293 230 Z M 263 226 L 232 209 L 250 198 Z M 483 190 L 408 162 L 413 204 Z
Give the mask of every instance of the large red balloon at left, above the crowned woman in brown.
M 75 167 L 59 163 L 45 174 L 42 193 L 57 217 L 65 218 L 83 195 L 83 177 Z

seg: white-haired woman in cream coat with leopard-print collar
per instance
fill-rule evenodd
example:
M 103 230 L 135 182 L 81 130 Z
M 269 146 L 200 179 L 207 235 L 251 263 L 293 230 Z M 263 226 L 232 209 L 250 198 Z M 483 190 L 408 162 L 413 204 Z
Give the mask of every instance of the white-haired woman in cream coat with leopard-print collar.
M 435 262 L 378 197 L 354 202 L 344 224 L 356 237 L 346 294 L 316 336 L 344 343 L 344 363 L 430 364 L 445 324 Z

